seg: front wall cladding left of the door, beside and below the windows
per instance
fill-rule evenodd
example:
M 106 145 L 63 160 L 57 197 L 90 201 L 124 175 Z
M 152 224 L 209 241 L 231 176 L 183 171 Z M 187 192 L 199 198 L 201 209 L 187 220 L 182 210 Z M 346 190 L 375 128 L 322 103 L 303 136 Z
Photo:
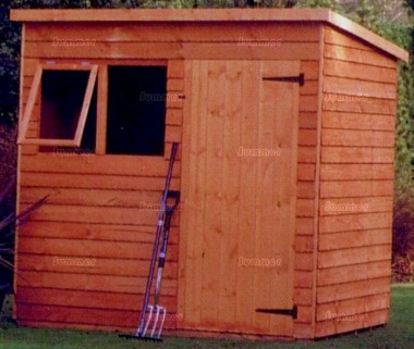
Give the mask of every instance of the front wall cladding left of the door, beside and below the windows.
M 35 67 L 24 66 L 25 86 Z M 168 91 L 179 91 L 180 62 L 170 61 L 168 75 Z M 180 140 L 181 122 L 181 104 L 169 103 L 167 154 L 170 142 Z M 20 323 L 107 329 L 136 326 L 157 221 L 156 209 L 148 207 L 159 203 L 167 161 L 162 157 L 38 153 L 36 146 L 21 148 L 21 210 L 45 195 L 50 197 L 19 230 Z M 174 190 L 180 189 L 180 163 L 175 163 Z M 179 214 L 172 226 L 163 301 L 174 313 Z M 87 259 L 94 265 L 64 265 L 57 258 Z M 175 323 L 176 317 L 171 317 L 166 328 L 174 328 Z

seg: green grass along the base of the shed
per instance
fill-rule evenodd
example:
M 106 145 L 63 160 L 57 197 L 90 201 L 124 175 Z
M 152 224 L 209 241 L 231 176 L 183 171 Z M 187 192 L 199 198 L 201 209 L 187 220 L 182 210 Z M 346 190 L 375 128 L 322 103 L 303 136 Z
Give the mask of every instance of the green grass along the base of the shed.
M 17 328 L 0 324 L 0 349 L 134 349 L 134 348 L 261 348 L 261 349 L 414 349 L 414 284 L 393 286 L 391 322 L 385 327 L 318 341 L 251 341 L 166 338 L 162 344 L 126 340 L 114 333 Z

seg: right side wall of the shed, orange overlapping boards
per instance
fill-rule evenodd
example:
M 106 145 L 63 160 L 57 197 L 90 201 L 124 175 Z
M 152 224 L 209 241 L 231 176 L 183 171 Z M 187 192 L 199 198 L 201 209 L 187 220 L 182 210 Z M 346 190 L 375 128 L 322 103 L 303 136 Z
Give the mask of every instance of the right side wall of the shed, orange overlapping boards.
M 389 320 L 397 63 L 326 26 L 316 337 Z

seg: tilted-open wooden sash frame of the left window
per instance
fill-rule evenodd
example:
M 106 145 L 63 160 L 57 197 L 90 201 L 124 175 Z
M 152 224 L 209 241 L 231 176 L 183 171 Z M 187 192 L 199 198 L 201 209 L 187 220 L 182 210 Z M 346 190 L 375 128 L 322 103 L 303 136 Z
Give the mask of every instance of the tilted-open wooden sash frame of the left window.
M 74 137 L 72 139 L 62 138 L 27 138 L 31 121 L 33 119 L 33 110 L 39 94 L 41 76 L 44 71 L 89 71 L 89 77 L 86 85 L 85 96 Z M 23 114 L 23 121 L 20 128 L 17 144 L 38 145 L 38 146 L 56 146 L 56 147 L 80 147 L 84 134 L 86 117 L 88 115 L 90 100 L 94 94 L 96 78 L 98 74 L 98 65 L 81 65 L 81 64 L 39 64 L 36 68 L 35 77 L 28 95 L 28 100 Z

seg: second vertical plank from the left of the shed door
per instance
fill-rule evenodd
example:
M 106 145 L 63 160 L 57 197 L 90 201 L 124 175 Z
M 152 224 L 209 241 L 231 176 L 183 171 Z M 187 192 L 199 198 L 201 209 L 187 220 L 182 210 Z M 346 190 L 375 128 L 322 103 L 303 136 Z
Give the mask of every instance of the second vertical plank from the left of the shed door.
M 202 284 L 202 323 L 212 324 L 219 321 L 217 303 L 220 285 L 220 259 L 217 253 L 221 251 L 222 230 L 222 163 L 223 163 L 223 126 L 226 95 L 222 87 L 226 86 L 226 61 L 209 61 L 207 76 L 207 123 L 204 130 L 207 133 L 206 149 L 206 177 L 204 196 L 208 209 L 204 212 L 203 225 L 203 275 L 206 281 Z M 205 82 L 206 83 L 206 82 Z M 208 325 L 207 325 L 208 326 Z

